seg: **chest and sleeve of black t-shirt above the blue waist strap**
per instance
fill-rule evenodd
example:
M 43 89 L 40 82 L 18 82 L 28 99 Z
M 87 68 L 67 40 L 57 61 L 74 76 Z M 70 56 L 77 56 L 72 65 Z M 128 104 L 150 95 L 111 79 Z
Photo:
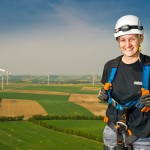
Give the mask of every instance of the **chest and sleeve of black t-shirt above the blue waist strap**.
M 106 63 L 101 82 L 108 81 L 111 64 L 113 60 Z M 120 104 L 136 101 L 140 97 L 142 87 L 142 63 L 138 60 L 133 64 L 125 64 L 120 60 L 116 76 L 113 80 L 112 98 Z

